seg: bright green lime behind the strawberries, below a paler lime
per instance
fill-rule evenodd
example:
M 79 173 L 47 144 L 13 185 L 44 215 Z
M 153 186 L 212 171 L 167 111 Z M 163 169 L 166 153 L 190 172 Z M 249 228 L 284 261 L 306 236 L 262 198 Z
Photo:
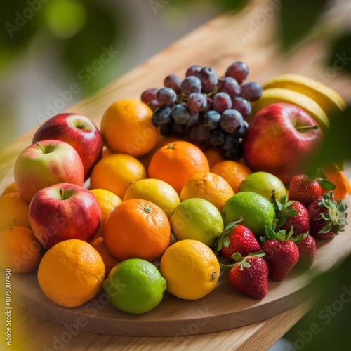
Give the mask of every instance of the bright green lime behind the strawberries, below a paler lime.
M 265 234 L 265 225 L 272 228 L 275 220 L 275 211 L 272 203 L 256 192 L 237 192 L 230 197 L 223 206 L 224 225 L 237 220 L 248 227 L 256 237 Z

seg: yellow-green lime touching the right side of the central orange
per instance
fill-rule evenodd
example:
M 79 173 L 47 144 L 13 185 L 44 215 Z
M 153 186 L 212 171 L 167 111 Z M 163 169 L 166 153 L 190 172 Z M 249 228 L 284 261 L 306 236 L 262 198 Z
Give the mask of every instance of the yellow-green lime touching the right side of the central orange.
M 177 240 L 193 239 L 207 246 L 213 245 L 223 232 L 223 218 L 218 208 L 197 197 L 180 202 L 173 211 L 170 223 Z

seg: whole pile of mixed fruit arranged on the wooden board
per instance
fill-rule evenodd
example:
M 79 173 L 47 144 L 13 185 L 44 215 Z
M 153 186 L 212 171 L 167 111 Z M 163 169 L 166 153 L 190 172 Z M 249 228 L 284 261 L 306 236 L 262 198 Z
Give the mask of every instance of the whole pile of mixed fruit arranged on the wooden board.
M 203 298 L 220 279 L 261 300 L 272 279 L 308 270 L 316 242 L 347 225 L 351 194 L 336 165 L 310 169 L 338 93 L 284 74 L 263 86 L 249 68 L 223 77 L 192 66 L 139 100 L 117 100 L 100 128 L 58 114 L 38 128 L 0 197 L 0 265 L 37 270 L 54 303 L 105 291 L 142 314 L 165 291 Z

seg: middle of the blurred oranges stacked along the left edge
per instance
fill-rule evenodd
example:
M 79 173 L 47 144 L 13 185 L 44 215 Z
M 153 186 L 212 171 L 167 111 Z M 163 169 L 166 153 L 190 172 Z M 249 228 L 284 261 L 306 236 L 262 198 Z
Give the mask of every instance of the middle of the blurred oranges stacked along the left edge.
M 29 204 L 20 192 L 10 192 L 0 197 L 0 230 L 13 225 L 30 228 Z

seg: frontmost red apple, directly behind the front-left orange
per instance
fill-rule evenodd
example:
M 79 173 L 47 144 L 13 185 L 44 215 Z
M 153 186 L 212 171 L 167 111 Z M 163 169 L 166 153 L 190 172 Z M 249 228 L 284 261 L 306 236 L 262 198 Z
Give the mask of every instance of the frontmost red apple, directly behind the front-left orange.
M 46 249 L 67 239 L 91 241 L 100 220 L 98 201 L 80 185 L 60 183 L 45 187 L 29 205 L 30 225 Z

